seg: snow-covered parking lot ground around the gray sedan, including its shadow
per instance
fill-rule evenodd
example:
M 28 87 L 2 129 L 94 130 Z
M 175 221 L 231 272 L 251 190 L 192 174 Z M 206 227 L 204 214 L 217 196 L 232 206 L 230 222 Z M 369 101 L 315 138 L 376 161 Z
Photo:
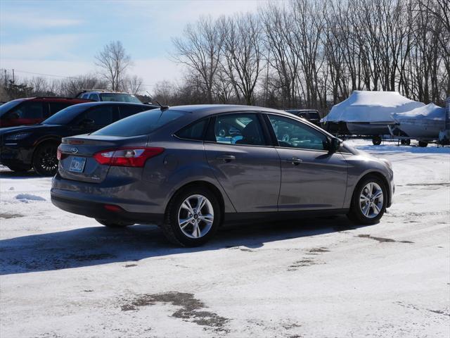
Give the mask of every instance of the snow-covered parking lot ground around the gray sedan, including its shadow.
M 450 149 L 351 143 L 394 166 L 378 225 L 224 227 L 195 249 L 0 168 L 0 337 L 449 337 Z

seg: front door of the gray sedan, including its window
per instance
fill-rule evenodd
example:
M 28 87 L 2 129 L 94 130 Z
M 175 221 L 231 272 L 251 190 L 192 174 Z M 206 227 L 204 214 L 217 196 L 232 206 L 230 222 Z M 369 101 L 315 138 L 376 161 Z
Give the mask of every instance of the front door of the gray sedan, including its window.
M 279 211 L 340 209 L 347 189 L 347 162 L 328 152 L 328 137 L 281 115 L 266 115 L 281 158 Z

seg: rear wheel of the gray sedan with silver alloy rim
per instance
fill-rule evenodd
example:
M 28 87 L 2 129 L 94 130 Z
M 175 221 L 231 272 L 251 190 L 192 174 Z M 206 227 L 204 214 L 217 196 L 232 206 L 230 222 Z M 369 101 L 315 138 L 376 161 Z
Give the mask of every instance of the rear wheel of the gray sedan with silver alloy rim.
M 161 229 L 173 244 L 199 246 L 214 236 L 220 223 L 217 196 L 205 187 L 188 187 L 172 197 Z

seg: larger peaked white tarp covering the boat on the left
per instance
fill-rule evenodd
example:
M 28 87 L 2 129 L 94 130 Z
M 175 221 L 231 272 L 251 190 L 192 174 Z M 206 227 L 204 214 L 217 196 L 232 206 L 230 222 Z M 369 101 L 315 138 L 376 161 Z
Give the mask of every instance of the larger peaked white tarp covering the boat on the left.
M 398 92 L 367 92 L 355 90 L 340 104 L 335 104 L 322 122 L 394 123 L 393 115 L 425 106 L 407 99 Z

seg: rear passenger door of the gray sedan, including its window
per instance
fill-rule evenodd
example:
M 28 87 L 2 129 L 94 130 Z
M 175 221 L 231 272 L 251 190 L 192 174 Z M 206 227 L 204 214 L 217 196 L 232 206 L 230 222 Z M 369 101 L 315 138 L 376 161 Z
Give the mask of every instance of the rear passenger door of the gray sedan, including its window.
M 207 161 L 240 213 L 278 209 L 280 158 L 262 121 L 259 113 L 217 115 L 207 131 Z

